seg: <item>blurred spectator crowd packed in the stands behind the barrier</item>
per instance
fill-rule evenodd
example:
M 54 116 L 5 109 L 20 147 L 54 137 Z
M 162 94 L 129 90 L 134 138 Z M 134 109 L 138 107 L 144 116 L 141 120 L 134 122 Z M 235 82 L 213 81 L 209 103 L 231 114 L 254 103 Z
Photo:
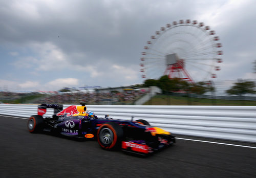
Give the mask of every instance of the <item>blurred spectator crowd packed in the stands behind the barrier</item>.
M 72 91 L 72 92 L 32 92 L 15 93 L 0 92 L 0 101 L 3 103 L 58 103 L 58 104 L 107 104 L 107 105 L 132 105 L 140 97 L 148 93 L 148 90 L 130 91 Z

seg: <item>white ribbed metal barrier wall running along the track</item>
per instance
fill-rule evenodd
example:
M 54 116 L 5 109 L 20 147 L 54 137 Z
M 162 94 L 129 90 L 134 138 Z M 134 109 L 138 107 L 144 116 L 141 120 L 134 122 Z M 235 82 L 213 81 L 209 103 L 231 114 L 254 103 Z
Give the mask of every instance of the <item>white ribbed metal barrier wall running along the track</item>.
M 178 135 L 256 143 L 256 106 L 87 105 L 87 110 L 98 117 L 145 119 Z M 0 104 L 0 114 L 30 117 L 37 114 L 37 105 Z M 48 109 L 44 116 L 52 114 L 53 109 Z

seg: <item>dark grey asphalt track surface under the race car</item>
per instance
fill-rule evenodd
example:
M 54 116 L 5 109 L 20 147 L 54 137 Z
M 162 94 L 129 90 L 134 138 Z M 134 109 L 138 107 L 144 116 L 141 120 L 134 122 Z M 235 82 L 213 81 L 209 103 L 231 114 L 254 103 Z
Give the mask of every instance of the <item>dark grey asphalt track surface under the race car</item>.
M 29 133 L 27 119 L 0 116 L 0 123 L 1 178 L 256 177 L 253 143 L 177 136 L 175 145 L 140 158 L 102 150 L 97 141 Z

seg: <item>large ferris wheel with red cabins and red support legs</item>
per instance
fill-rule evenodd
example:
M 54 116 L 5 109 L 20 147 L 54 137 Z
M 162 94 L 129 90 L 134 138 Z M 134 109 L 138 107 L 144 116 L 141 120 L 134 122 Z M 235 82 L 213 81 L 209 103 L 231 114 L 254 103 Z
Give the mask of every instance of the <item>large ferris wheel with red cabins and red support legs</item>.
M 173 21 L 151 36 L 140 58 L 142 78 L 182 78 L 191 83 L 216 78 L 223 54 L 220 38 L 197 20 Z

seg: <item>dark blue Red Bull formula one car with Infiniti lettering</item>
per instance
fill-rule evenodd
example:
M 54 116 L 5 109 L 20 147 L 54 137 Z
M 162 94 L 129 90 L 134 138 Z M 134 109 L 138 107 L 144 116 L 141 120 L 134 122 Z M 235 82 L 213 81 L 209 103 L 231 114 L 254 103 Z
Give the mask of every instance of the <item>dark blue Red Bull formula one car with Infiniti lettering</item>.
M 43 118 L 47 108 L 53 108 L 51 118 Z M 122 149 L 123 151 L 147 155 L 160 148 L 175 143 L 170 132 L 152 127 L 142 119 L 133 121 L 98 118 L 93 112 L 86 112 L 85 104 L 71 105 L 63 109 L 58 104 L 38 105 L 37 115 L 28 120 L 31 133 L 49 131 L 68 137 L 97 139 L 103 149 Z

